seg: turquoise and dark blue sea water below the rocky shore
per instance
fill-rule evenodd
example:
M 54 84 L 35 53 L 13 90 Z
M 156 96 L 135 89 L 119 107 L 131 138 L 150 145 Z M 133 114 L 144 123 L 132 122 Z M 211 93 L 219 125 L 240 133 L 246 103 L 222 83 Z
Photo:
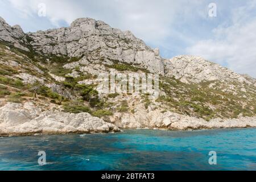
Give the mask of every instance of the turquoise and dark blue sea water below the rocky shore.
M 44 166 L 38 152 L 46 151 Z M 217 165 L 209 165 L 209 151 Z M 256 170 L 256 129 L 0 138 L 0 170 Z

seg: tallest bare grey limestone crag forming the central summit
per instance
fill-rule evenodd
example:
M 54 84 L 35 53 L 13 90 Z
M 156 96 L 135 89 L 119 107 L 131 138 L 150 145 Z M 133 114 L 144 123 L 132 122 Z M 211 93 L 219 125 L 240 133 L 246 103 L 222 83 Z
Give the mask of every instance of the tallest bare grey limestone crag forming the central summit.
M 122 32 L 91 18 L 76 19 L 70 27 L 28 34 L 31 45 L 46 54 L 84 56 L 82 64 L 127 63 L 164 75 L 162 58 L 130 31 Z M 85 61 L 88 60 L 88 61 Z M 79 63 L 65 65 L 73 67 Z

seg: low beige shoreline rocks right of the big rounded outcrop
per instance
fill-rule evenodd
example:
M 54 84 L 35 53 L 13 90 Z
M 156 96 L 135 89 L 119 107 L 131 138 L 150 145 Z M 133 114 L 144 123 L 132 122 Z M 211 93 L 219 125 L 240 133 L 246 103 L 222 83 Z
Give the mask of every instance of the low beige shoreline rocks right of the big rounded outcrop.
M 118 127 L 129 129 L 199 130 L 256 127 L 256 117 L 216 118 L 205 121 L 201 118 L 189 117 L 170 111 L 163 112 L 159 109 L 146 111 L 142 106 L 138 106 L 137 110 L 134 114 L 116 113 L 111 120 Z

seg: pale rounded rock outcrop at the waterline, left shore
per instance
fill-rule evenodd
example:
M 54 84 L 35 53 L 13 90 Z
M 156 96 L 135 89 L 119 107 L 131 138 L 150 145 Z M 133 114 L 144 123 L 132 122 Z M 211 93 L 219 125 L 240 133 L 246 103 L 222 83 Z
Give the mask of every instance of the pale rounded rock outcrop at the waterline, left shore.
M 0 135 L 109 133 L 120 131 L 117 126 L 89 113 L 43 111 L 32 102 L 24 105 L 7 103 L 0 107 Z

